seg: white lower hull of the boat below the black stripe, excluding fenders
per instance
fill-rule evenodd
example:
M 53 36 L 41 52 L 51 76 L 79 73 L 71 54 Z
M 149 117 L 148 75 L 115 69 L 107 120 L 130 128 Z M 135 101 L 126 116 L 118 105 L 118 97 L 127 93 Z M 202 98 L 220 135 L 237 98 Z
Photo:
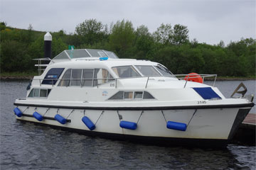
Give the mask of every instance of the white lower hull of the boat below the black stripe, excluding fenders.
M 18 106 L 18 105 L 17 105 Z M 47 108 L 35 106 L 18 106 L 23 112 L 18 120 L 51 125 L 65 130 L 82 132 L 86 135 L 132 140 L 157 145 L 185 145 L 225 147 L 232 139 L 242 120 L 251 107 L 235 108 L 188 108 L 171 110 L 101 110 L 75 108 Z M 33 112 L 43 115 L 43 120 L 33 118 Z M 56 121 L 59 114 L 68 121 L 64 125 Z M 90 130 L 82 122 L 87 116 L 95 129 Z M 137 129 L 121 128 L 121 121 L 137 123 Z M 173 121 L 185 123 L 185 131 L 166 128 L 166 123 Z

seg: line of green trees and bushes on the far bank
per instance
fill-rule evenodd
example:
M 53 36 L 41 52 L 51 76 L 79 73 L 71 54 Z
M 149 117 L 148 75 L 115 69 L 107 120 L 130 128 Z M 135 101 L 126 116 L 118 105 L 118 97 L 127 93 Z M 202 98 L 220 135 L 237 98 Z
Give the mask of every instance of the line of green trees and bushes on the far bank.
M 43 57 L 43 36 L 46 32 L 11 28 L 0 23 L 1 72 L 32 72 L 34 58 Z M 75 49 L 92 48 L 115 52 L 120 58 L 151 60 L 168 67 L 174 74 L 218 74 L 229 77 L 255 77 L 256 40 L 241 38 L 224 45 L 189 40 L 188 28 L 181 24 L 162 23 L 154 33 L 142 25 L 134 28 L 131 21 L 117 21 L 110 26 L 88 19 L 75 27 L 75 33 L 64 30 L 51 33 L 52 55 L 55 57 L 68 45 Z

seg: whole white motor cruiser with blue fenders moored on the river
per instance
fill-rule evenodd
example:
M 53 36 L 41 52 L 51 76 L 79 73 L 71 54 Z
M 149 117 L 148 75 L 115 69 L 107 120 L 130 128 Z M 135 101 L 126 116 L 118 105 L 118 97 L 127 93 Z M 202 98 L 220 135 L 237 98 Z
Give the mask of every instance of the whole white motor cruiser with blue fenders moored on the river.
M 42 60 L 43 74 L 14 103 L 18 120 L 119 140 L 225 146 L 254 106 L 252 97 L 225 98 L 203 84 L 216 75 L 178 79 L 162 64 L 110 51 L 65 50 Z

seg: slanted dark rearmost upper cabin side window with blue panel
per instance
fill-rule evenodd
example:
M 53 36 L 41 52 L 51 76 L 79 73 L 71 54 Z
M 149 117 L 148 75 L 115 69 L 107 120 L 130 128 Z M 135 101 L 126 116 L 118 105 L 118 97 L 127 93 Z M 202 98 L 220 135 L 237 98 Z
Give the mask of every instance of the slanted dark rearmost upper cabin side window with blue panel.
M 50 69 L 46 77 L 44 77 L 42 84 L 55 84 L 60 77 L 60 74 L 63 72 L 64 68 L 53 68 Z

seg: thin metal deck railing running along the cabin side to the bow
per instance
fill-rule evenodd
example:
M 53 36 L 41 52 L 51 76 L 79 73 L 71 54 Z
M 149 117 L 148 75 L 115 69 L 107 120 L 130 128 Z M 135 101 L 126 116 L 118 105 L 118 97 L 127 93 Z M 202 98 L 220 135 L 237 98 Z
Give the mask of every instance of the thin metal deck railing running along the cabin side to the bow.
M 208 77 L 213 77 L 213 79 L 214 79 L 213 86 L 215 86 L 215 81 L 216 81 L 216 78 L 217 78 L 217 74 L 198 74 L 198 75 L 176 74 L 174 76 L 170 76 L 170 77 L 171 78 L 177 78 L 180 81 L 181 80 L 184 81 L 183 88 L 186 88 L 186 84 L 187 84 L 188 81 L 191 81 L 191 79 L 196 79 L 198 77 L 201 77 L 203 79 L 203 81 L 205 81 L 205 79 L 208 78 Z M 87 83 L 91 81 L 89 83 L 89 84 L 91 84 L 90 86 L 91 87 L 97 86 L 97 88 L 98 88 L 100 85 L 106 84 L 106 83 L 109 83 L 109 82 L 112 81 L 112 84 L 110 86 L 113 86 L 114 88 L 117 88 L 117 81 L 120 80 L 120 79 L 138 79 L 138 78 L 146 78 L 146 82 L 145 82 L 145 89 L 146 89 L 148 84 L 149 84 L 149 80 L 153 79 L 154 77 L 128 77 L 128 78 L 116 78 L 116 79 L 114 79 L 114 78 L 110 78 L 110 79 L 31 79 L 31 82 L 32 81 L 38 81 L 39 86 L 42 85 L 43 81 L 48 81 L 48 82 L 50 81 L 50 83 L 47 83 L 47 85 L 84 87 L 84 86 L 87 86 L 87 85 L 85 85 L 86 81 L 87 81 Z M 60 81 L 58 81 L 58 80 L 60 80 Z M 102 82 L 99 83 L 98 81 L 102 81 Z M 63 82 L 63 85 L 59 85 L 61 82 Z M 75 83 L 75 85 L 72 85 L 73 83 Z M 87 87 L 89 87 L 89 86 L 87 86 Z

